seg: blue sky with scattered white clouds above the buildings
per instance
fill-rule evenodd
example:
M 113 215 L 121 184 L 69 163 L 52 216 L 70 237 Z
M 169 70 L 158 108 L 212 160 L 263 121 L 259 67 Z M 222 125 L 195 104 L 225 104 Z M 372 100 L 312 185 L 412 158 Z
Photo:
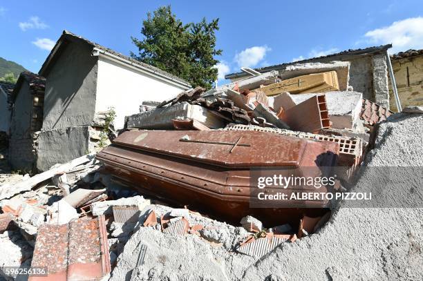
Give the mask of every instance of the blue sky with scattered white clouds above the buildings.
M 38 72 L 66 29 L 129 55 L 148 11 L 171 4 L 183 21 L 220 19 L 220 78 L 332 52 L 394 43 L 423 48 L 423 1 L 4 1 L 0 57 Z

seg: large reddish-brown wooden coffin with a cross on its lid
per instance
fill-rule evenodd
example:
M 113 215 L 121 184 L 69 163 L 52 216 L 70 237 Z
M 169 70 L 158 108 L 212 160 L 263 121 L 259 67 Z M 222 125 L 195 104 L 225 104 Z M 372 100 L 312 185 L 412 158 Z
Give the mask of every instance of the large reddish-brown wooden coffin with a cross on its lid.
M 97 159 L 104 162 L 109 173 L 141 193 L 230 222 L 254 215 L 273 223 L 295 222 L 304 210 L 250 209 L 250 196 L 257 189 L 251 181 L 251 169 L 296 168 L 296 174 L 315 176 L 320 166 L 335 166 L 338 154 L 336 143 L 272 133 L 133 130 L 97 153 Z M 286 173 L 292 173 L 292 169 Z M 286 203 L 290 207 L 290 202 Z M 326 202 L 304 204 L 320 208 Z

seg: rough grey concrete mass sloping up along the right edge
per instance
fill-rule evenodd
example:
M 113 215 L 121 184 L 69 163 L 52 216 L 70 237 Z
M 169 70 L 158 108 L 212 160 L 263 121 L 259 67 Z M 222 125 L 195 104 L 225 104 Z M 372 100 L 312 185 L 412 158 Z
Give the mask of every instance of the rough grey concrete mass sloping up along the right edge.
M 423 115 L 388 118 L 361 173 L 366 166 L 423 166 L 422 133 Z M 366 184 L 362 177 L 355 191 Z M 243 280 L 276 272 L 286 280 L 422 280 L 422 217 L 422 208 L 339 208 L 321 231 L 282 244 L 249 267 Z

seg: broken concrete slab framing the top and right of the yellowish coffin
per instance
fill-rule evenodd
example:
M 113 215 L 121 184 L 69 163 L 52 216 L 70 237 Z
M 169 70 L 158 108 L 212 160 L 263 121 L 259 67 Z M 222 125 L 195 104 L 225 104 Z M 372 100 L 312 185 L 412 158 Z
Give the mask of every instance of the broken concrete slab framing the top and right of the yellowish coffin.
M 339 90 L 347 90 L 350 80 L 350 61 L 330 61 L 328 63 L 293 64 L 279 71 L 281 79 L 335 70 L 339 81 Z

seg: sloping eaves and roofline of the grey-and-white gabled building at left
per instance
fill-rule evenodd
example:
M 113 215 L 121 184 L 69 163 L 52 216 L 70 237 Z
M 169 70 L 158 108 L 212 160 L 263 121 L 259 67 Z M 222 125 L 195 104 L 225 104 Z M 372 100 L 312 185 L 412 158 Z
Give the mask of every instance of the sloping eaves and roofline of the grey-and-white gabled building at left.
M 64 30 L 62 33 L 62 36 L 57 40 L 55 46 L 50 52 L 50 55 L 48 55 L 46 61 L 44 61 L 44 64 L 41 66 L 41 69 L 39 70 L 40 75 L 46 76 L 46 72 L 48 72 L 48 66 L 50 63 L 55 59 L 56 55 L 58 55 L 58 50 L 62 44 L 66 41 L 73 41 L 73 40 L 82 40 L 85 43 L 88 43 L 93 47 L 93 51 L 98 51 L 106 56 L 109 57 L 118 57 L 120 61 L 124 61 L 126 64 L 135 66 L 138 68 L 142 68 L 142 70 L 150 72 L 153 75 L 158 75 L 160 77 L 163 77 L 167 80 L 171 80 L 173 82 L 176 82 L 182 86 L 185 86 L 185 88 L 191 88 L 191 85 L 179 77 L 172 75 L 169 72 L 166 72 L 164 70 L 161 70 L 160 68 L 156 68 L 155 66 L 150 66 L 149 64 L 144 64 L 142 61 L 138 61 L 136 59 L 133 59 L 131 57 L 127 57 L 125 55 L 122 55 L 120 52 L 116 52 L 114 50 L 111 50 L 109 48 L 106 48 L 104 46 L 101 46 L 98 43 L 95 43 L 93 41 L 89 41 L 88 39 L 85 39 L 84 37 L 81 37 L 79 35 L 75 35 L 72 32 L 69 32 L 68 30 Z

